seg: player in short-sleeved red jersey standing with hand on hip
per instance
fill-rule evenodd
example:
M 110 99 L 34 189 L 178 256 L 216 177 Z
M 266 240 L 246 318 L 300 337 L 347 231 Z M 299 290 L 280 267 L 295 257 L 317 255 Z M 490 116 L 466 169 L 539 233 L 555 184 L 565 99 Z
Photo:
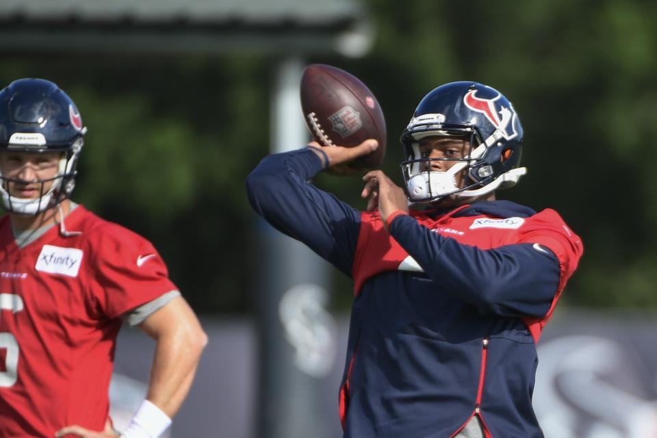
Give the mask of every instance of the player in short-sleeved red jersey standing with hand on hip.
M 50 81 L 0 91 L 0 437 L 119 436 L 108 387 L 123 322 L 156 348 L 120 436 L 158 437 L 207 342 L 153 245 L 70 201 L 85 132 Z

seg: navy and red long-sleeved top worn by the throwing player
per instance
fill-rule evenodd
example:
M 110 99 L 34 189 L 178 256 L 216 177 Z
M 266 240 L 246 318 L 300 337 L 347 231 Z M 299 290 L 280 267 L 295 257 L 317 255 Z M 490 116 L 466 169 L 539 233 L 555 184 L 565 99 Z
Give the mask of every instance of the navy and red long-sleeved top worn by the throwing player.
M 248 198 L 355 279 L 340 389 L 344 436 L 450 437 L 478 415 L 492 437 L 541 437 L 535 342 L 582 253 L 556 212 L 508 201 L 448 214 L 358 211 L 309 179 L 308 149 L 270 155 Z

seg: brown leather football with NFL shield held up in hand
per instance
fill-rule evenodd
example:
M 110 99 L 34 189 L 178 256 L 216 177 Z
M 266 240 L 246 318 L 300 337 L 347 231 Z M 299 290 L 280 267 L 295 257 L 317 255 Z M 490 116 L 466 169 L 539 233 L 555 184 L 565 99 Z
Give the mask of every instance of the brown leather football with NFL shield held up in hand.
M 385 119 L 376 97 L 354 75 L 326 64 L 307 66 L 301 78 L 301 109 L 313 139 L 323 146 L 357 146 L 368 138 L 376 151 L 347 167 L 364 170 L 381 166 L 385 156 Z

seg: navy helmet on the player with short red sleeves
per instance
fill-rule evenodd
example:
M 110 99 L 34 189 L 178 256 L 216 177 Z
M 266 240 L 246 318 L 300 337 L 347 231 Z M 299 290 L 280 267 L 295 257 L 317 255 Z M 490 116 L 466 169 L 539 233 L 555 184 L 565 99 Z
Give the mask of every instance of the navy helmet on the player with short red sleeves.
M 8 184 L 22 182 L 1 174 L 0 195 L 6 209 L 37 214 L 69 198 L 75 188 L 77 158 L 86 127 L 73 100 L 55 83 L 44 79 L 18 79 L 0 90 L 0 153 L 60 151 L 54 178 L 30 181 L 41 184 L 41 196 L 24 199 L 10 196 Z M 44 183 L 54 181 L 46 192 Z

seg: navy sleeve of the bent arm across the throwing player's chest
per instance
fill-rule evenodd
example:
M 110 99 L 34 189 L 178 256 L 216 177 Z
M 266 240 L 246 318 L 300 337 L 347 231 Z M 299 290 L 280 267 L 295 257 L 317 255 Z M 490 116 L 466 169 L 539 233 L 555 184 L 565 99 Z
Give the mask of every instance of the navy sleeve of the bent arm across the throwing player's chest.
M 389 231 L 437 285 L 482 313 L 543 317 L 551 308 L 561 271 L 550 246 L 526 241 L 481 249 L 432 233 L 407 215 L 394 218 Z

